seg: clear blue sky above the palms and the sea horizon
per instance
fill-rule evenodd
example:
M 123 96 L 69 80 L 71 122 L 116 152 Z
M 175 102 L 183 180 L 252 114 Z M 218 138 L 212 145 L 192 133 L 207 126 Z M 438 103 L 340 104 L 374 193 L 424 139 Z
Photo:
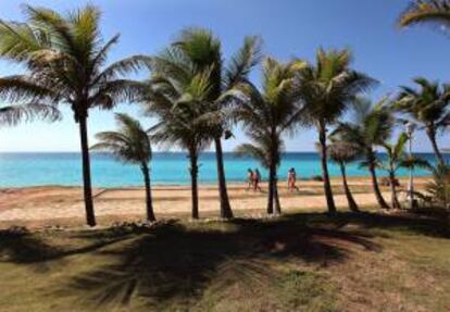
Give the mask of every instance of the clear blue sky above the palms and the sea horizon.
M 121 41 L 111 53 L 111 61 L 134 53 L 153 54 L 171 42 L 188 26 L 208 27 L 222 39 L 225 57 L 241 43 L 246 35 L 264 39 L 264 53 L 288 60 L 291 57 L 313 60 L 315 50 L 350 48 L 354 67 L 380 80 L 370 96 L 379 98 L 395 92 L 411 78 L 425 76 L 450 80 L 450 39 L 430 27 L 399 29 L 398 14 L 405 0 L 36 0 L 27 3 L 70 10 L 93 3 L 101 8 L 102 33 L 110 38 L 121 34 Z M 23 21 L 23 1 L 0 1 L 0 18 Z M 20 72 L 16 65 L 0 61 L 0 75 Z M 259 79 L 259 68 L 252 78 Z M 115 111 L 139 115 L 139 108 L 120 105 Z M 77 151 L 78 128 L 71 112 L 63 108 L 62 122 L 35 122 L 0 129 L 0 151 Z M 142 118 L 150 125 L 152 121 Z M 114 127 L 112 112 L 93 111 L 89 117 L 91 142 L 97 132 Z M 239 129 L 236 139 L 224 149 L 233 150 L 246 140 Z M 301 129 L 287 139 L 290 151 L 314 150 L 314 130 Z M 445 141 L 440 139 L 443 145 Z M 416 150 L 430 151 L 423 134 L 415 141 Z

